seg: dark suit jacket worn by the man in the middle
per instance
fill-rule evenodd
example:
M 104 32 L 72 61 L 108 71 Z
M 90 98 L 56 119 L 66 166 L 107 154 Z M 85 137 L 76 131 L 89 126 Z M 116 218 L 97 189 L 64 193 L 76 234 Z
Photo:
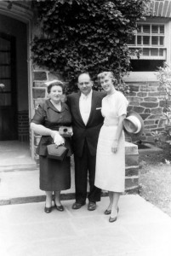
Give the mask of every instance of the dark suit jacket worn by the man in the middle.
M 100 128 L 103 125 L 104 120 L 101 115 L 101 101 L 105 96 L 105 92 L 93 90 L 92 106 L 87 125 L 84 125 L 79 110 L 80 96 L 80 92 L 67 96 L 67 104 L 71 110 L 73 127 L 72 147 L 74 154 L 78 157 L 81 157 L 83 154 L 83 145 L 85 141 L 88 143 L 90 154 L 96 154 Z

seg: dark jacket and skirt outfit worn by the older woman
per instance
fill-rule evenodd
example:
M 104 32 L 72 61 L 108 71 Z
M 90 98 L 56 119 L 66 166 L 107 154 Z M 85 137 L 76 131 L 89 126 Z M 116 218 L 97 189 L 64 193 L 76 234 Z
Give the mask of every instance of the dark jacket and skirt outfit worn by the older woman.
M 47 100 L 36 110 L 32 123 L 43 125 L 51 130 L 58 131 L 62 125 L 71 125 L 71 113 L 66 103 L 61 103 L 61 111 Z M 45 191 L 59 191 L 71 187 L 71 138 L 65 138 L 69 153 L 66 160 L 59 161 L 47 158 L 47 145 L 53 143 L 50 136 L 42 136 L 37 147 L 40 161 L 40 189 Z

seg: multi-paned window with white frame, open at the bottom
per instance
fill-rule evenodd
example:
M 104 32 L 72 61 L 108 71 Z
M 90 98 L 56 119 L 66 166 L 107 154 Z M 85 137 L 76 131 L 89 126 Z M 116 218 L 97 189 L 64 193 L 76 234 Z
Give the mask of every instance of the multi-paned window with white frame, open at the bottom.
M 140 50 L 140 59 L 136 55 L 131 57 L 133 71 L 156 71 L 158 65 L 162 66 L 163 61 L 166 61 L 165 26 L 138 24 L 134 37 L 128 42 L 128 48 Z

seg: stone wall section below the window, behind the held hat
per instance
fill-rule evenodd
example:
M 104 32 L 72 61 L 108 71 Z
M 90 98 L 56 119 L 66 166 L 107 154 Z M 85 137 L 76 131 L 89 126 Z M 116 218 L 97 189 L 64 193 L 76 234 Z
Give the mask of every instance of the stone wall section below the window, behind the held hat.
M 163 131 L 165 119 L 162 117 L 162 110 L 165 101 L 162 99 L 161 91 L 157 82 L 134 82 L 127 83 L 130 87 L 128 98 L 128 110 L 140 113 L 144 120 L 145 131 L 139 137 L 132 137 L 132 140 L 153 141 L 151 131 Z

